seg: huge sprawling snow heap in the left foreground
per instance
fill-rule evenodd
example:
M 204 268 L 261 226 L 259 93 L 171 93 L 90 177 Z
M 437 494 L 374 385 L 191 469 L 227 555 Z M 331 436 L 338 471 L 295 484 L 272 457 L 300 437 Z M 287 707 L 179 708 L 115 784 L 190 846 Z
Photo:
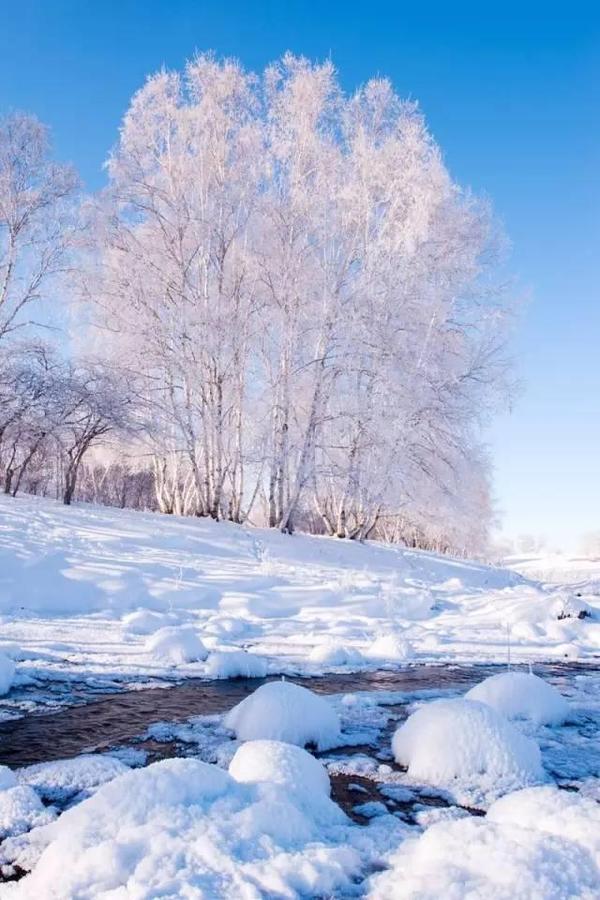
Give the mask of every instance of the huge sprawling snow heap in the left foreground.
M 12 895 L 39 900 L 51 886 L 55 900 L 343 896 L 361 870 L 345 834 L 327 798 L 317 822 L 283 787 L 169 759 L 103 785 L 9 844 L 20 847 L 16 865 L 33 865 Z

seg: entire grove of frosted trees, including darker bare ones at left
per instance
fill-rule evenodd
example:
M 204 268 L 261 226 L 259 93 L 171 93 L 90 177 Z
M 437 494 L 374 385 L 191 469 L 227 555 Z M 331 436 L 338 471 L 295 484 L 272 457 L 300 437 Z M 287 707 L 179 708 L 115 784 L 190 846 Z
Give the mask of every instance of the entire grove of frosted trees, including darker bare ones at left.
M 417 106 L 330 63 L 149 78 L 93 197 L 11 116 L 4 489 L 480 552 L 500 245 Z

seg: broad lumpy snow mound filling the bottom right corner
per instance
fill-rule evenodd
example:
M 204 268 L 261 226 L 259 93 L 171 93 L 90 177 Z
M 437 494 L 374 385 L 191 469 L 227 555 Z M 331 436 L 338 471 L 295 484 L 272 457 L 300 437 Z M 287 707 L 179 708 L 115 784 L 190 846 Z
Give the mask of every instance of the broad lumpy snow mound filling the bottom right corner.
M 484 819 L 440 822 L 405 841 L 371 900 L 565 900 L 597 896 L 600 806 L 554 786 L 498 800 Z

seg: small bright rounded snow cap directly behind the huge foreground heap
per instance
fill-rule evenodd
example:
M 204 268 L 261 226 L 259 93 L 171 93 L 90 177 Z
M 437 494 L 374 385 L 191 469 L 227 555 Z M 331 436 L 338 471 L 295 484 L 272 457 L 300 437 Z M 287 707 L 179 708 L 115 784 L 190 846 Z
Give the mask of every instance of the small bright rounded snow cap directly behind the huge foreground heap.
M 236 781 L 270 782 L 301 795 L 329 797 L 331 786 L 325 767 L 301 747 L 281 741 L 248 741 L 229 764 Z

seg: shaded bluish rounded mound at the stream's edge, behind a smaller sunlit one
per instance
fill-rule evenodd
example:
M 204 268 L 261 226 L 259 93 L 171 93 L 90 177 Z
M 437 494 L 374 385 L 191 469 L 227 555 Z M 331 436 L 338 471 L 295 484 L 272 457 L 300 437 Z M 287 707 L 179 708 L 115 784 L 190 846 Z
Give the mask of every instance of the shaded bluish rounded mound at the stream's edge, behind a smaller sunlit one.
M 333 707 L 312 691 L 289 681 L 271 681 L 234 706 L 224 724 L 241 741 L 285 741 L 327 750 L 340 742 L 340 720 Z

